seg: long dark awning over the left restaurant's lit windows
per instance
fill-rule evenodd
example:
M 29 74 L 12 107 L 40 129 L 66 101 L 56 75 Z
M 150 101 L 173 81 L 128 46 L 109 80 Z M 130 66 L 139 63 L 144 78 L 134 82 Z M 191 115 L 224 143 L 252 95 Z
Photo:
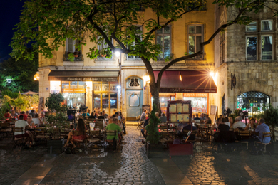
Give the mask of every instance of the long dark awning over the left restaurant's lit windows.
M 48 80 L 118 82 L 118 71 L 51 70 Z

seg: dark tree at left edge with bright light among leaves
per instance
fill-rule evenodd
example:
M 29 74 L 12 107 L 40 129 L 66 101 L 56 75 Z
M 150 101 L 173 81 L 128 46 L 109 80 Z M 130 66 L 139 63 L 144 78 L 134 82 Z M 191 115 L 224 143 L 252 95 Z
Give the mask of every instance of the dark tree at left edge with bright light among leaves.
M 27 49 L 26 52 L 31 52 Z M 28 90 L 38 92 L 38 82 L 34 81 L 34 75 L 38 70 L 38 53 L 32 52 L 34 58 L 32 60 L 24 59 L 26 53 L 21 54 L 18 60 L 14 58 L 9 58 L 1 63 L 0 68 L 0 89 L 1 90 L 11 90 L 13 92 L 19 93 L 19 91 L 24 92 Z M 8 83 L 7 79 L 11 79 Z

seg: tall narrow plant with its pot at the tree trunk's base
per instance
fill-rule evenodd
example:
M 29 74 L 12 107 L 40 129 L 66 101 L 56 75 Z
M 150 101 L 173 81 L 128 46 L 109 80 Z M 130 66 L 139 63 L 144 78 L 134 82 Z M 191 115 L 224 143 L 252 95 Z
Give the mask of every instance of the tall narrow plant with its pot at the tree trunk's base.
M 149 158 L 163 156 L 164 152 L 163 144 L 160 142 L 160 133 L 158 132 L 158 123 L 160 123 L 160 120 L 155 116 L 156 110 L 157 108 L 154 105 L 150 113 L 149 124 L 145 127 L 148 132 L 145 147 Z

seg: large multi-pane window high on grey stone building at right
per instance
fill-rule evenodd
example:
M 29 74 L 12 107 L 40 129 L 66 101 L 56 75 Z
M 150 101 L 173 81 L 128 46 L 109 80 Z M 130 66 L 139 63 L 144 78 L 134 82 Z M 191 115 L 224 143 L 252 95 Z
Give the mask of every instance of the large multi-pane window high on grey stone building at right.
M 269 34 L 269 31 L 273 31 L 273 21 L 262 20 L 259 23 L 258 26 L 257 21 L 252 21 L 246 26 L 246 60 L 273 60 L 274 39 L 273 35 Z M 260 30 L 257 31 L 257 28 Z M 250 32 L 253 32 L 252 35 L 249 35 Z

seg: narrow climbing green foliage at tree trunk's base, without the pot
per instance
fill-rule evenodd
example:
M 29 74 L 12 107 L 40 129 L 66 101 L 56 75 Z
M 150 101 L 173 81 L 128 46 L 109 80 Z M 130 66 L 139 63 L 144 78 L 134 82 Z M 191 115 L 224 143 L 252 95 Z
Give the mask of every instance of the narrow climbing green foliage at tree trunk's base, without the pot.
M 156 105 L 153 106 L 153 110 L 150 113 L 149 125 L 145 127 L 148 132 L 146 141 L 150 142 L 150 144 L 158 144 L 160 139 L 160 134 L 158 132 L 158 123 L 160 123 L 161 121 L 158 119 L 158 117 L 155 116 L 155 112 L 157 112 Z

